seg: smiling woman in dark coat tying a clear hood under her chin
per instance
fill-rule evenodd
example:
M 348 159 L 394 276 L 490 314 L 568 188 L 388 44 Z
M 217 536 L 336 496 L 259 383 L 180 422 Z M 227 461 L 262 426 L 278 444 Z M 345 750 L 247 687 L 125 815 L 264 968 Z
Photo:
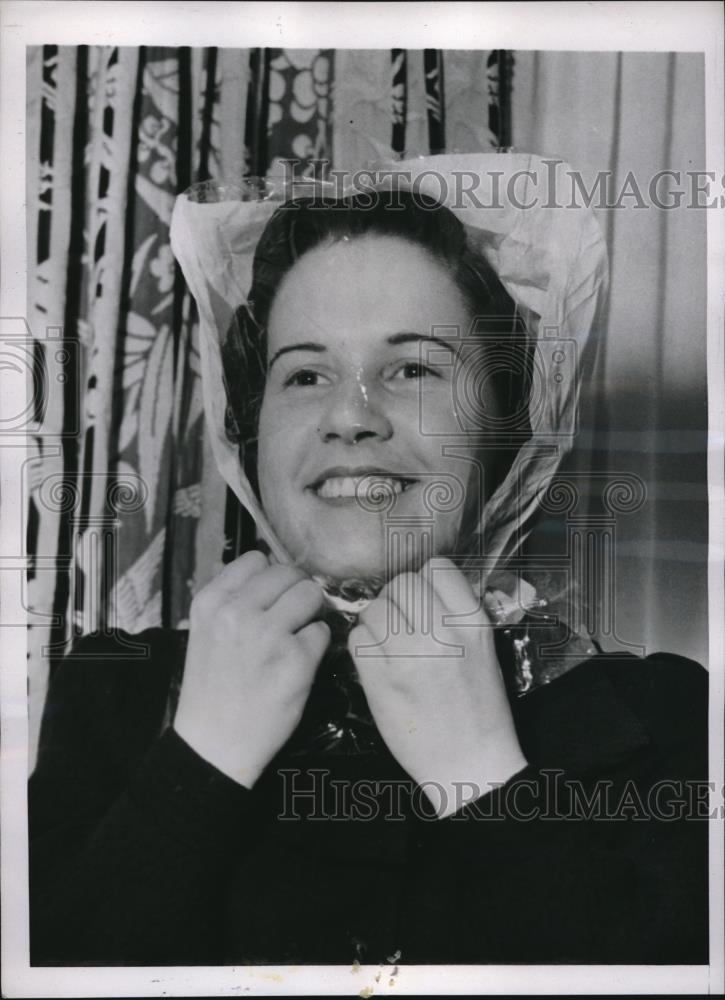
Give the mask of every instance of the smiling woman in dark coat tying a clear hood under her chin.
M 707 777 L 704 672 L 576 637 L 528 656 L 561 629 L 501 583 L 570 439 L 601 237 L 422 187 L 181 203 L 210 431 L 260 549 L 188 638 L 134 661 L 85 637 L 54 678 L 35 963 L 706 961 L 705 824 L 653 806 Z

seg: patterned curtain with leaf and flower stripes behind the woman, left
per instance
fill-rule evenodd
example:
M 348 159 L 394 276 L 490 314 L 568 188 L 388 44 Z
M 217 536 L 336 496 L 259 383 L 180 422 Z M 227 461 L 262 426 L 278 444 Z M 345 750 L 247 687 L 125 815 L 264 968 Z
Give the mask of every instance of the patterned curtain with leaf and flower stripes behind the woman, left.
M 253 540 L 203 434 L 174 198 L 296 161 L 510 145 L 510 53 L 28 49 L 31 764 L 82 633 L 185 623 Z

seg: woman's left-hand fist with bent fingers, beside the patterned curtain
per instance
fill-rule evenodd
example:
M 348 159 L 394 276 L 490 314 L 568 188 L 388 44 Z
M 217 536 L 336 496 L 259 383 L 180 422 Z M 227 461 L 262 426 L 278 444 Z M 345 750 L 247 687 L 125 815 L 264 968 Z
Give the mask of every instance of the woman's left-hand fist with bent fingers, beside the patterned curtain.
M 247 552 L 199 591 L 174 728 L 251 788 L 299 722 L 330 639 L 322 589 Z

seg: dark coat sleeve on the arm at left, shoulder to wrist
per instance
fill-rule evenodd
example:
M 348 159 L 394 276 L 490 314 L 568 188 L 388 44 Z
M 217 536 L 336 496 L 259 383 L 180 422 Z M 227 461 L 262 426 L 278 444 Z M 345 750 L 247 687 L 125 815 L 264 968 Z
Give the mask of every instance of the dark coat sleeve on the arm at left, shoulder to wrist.
M 29 784 L 34 965 L 220 960 L 253 796 L 161 732 L 180 655 L 160 630 L 86 637 L 53 677 Z

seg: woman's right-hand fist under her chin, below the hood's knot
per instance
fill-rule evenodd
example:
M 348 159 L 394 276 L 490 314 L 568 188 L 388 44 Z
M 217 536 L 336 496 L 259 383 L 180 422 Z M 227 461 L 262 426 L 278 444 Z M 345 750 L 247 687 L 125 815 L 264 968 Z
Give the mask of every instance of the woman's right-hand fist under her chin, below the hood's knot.
M 446 625 L 446 615 L 459 621 Z M 439 816 L 526 766 L 493 629 L 448 559 L 391 580 L 349 649 L 383 739 Z

